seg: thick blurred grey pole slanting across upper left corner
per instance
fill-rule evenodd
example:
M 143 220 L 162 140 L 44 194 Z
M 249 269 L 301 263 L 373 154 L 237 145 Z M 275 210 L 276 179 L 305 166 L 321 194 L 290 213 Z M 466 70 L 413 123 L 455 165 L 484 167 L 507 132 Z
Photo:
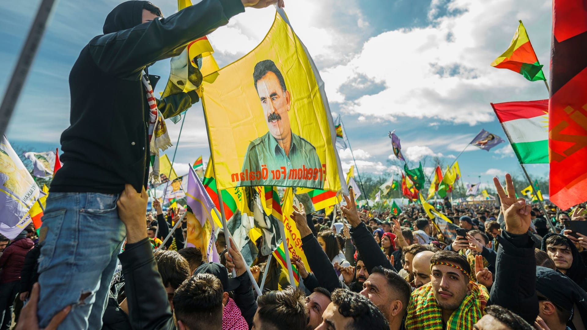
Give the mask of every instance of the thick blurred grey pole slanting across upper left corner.
M 12 76 L 8 81 L 8 85 L 6 85 L 4 99 L 2 99 L 2 105 L 0 105 L 0 136 L 6 133 L 8 122 L 12 116 L 12 112 L 14 112 L 18 97 L 21 95 L 22 87 L 25 85 L 26 76 L 28 76 L 31 70 L 36 52 L 39 49 L 41 39 L 47 28 L 49 17 L 55 7 L 55 2 L 56 0 L 41 1 L 29 34 L 26 36 L 25 44 L 22 46 L 18 62 L 16 62 Z

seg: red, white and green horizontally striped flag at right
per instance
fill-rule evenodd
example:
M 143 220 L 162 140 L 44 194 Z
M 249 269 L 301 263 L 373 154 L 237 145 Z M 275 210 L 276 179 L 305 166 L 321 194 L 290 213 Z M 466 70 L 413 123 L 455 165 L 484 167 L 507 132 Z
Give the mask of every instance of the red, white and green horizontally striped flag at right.
M 548 163 L 548 100 L 491 103 L 521 164 Z

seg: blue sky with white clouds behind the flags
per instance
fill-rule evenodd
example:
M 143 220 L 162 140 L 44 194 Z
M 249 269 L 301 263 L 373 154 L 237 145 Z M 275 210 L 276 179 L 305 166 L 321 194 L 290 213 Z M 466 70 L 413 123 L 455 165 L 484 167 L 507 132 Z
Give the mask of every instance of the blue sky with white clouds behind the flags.
M 0 2 L 2 94 L 40 2 Z M 69 70 L 83 46 L 101 34 L 104 18 L 120 2 L 58 2 L 6 134 L 12 144 L 35 151 L 59 147 L 60 134 L 69 126 Z M 175 0 L 154 3 L 164 15 L 177 11 Z M 360 173 L 390 176 L 396 171 L 387 161 L 394 159 L 387 137 L 390 130 L 396 130 L 404 155 L 414 166 L 426 156 L 427 166 L 434 156 L 450 164 L 481 129 L 505 139 L 490 102 L 548 97 L 544 83 L 529 82 L 490 63 L 507 49 L 521 19 L 548 76 L 551 3 L 286 0 L 285 12 L 320 70 L 330 109 L 342 115 Z M 274 15 L 274 8 L 247 9 L 211 33 L 208 38 L 220 66 L 254 48 Z M 166 78 L 168 67 L 169 61 L 163 60 L 150 73 Z M 164 83 L 157 87 L 156 93 Z M 168 126 L 176 141 L 180 124 Z M 170 158 L 173 151 L 167 151 Z M 200 155 L 206 163 L 209 154 L 203 111 L 197 103 L 187 112 L 176 169 L 185 172 Z M 343 169 L 348 169 L 350 151 L 340 151 L 340 157 Z M 481 176 L 481 182 L 488 183 L 494 175 L 520 171 L 508 143 L 489 152 L 470 146 L 458 162 L 465 182 L 477 182 Z M 548 174 L 546 164 L 527 168 L 531 176 Z

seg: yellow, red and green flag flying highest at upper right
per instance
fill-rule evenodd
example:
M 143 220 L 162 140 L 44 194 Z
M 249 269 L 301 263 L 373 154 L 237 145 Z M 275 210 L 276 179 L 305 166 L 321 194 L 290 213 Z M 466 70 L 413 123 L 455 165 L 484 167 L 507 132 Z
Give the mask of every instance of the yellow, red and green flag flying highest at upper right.
M 542 65 L 538 62 L 522 21 L 519 21 L 518 29 L 514 34 L 510 47 L 495 59 L 491 66 L 518 72 L 532 82 L 546 80 L 544 72 L 542 72 Z

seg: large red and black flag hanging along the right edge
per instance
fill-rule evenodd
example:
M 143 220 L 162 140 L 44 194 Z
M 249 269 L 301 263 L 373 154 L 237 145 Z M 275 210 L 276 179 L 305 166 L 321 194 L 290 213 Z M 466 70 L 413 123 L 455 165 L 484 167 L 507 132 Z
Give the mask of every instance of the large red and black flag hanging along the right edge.
M 550 200 L 567 208 L 587 200 L 587 3 L 552 3 L 548 104 Z

